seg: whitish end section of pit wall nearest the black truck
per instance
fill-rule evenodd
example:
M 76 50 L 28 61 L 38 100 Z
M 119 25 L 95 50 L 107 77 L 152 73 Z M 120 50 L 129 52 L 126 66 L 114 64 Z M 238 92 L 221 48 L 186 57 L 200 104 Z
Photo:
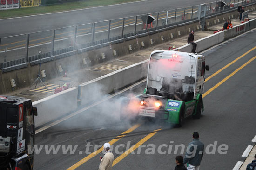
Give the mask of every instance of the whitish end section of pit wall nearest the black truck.
M 32 103 L 37 107 L 38 116 L 35 117 L 35 127 L 42 126 L 52 120 L 74 111 L 77 107 L 78 88 L 69 88 Z

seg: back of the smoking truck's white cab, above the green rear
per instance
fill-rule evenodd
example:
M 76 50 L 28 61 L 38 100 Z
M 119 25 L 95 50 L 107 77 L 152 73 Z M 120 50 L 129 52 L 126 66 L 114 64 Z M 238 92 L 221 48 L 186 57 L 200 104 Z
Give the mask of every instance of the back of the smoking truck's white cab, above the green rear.
M 152 55 L 147 94 L 183 100 L 187 93 L 194 92 L 195 66 L 194 57 Z

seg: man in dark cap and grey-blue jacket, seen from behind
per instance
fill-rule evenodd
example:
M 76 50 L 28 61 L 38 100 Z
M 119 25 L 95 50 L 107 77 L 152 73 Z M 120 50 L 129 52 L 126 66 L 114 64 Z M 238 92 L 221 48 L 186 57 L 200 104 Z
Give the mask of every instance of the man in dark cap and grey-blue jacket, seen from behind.
M 188 170 L 199 170 L 203 157 L 204 144 L 199 140 L 198 132 L 194 132 L 192 137 L 193 141 L 189 143 L 183 164 L 189 164 L 187 167 Z

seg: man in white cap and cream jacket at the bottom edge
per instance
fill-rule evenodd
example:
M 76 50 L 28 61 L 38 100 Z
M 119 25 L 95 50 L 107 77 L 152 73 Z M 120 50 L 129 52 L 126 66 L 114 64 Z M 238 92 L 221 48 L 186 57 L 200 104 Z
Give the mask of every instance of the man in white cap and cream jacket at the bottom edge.
M 103 149 L 105 153 L 103 157 L 100 157 L 101 164 L 100 164 L 99 170 L 112 170 L 114 155 L 110 151 L 110 144 L 105 143 L 103 146 Z

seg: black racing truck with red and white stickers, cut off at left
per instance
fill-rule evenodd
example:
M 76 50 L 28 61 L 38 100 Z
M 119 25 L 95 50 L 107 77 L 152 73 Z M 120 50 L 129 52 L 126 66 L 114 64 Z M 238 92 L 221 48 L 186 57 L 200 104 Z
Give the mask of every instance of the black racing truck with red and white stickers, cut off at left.
M 0 96 L 0 170 L 33 170 L 34 116 L 30 99 Z

